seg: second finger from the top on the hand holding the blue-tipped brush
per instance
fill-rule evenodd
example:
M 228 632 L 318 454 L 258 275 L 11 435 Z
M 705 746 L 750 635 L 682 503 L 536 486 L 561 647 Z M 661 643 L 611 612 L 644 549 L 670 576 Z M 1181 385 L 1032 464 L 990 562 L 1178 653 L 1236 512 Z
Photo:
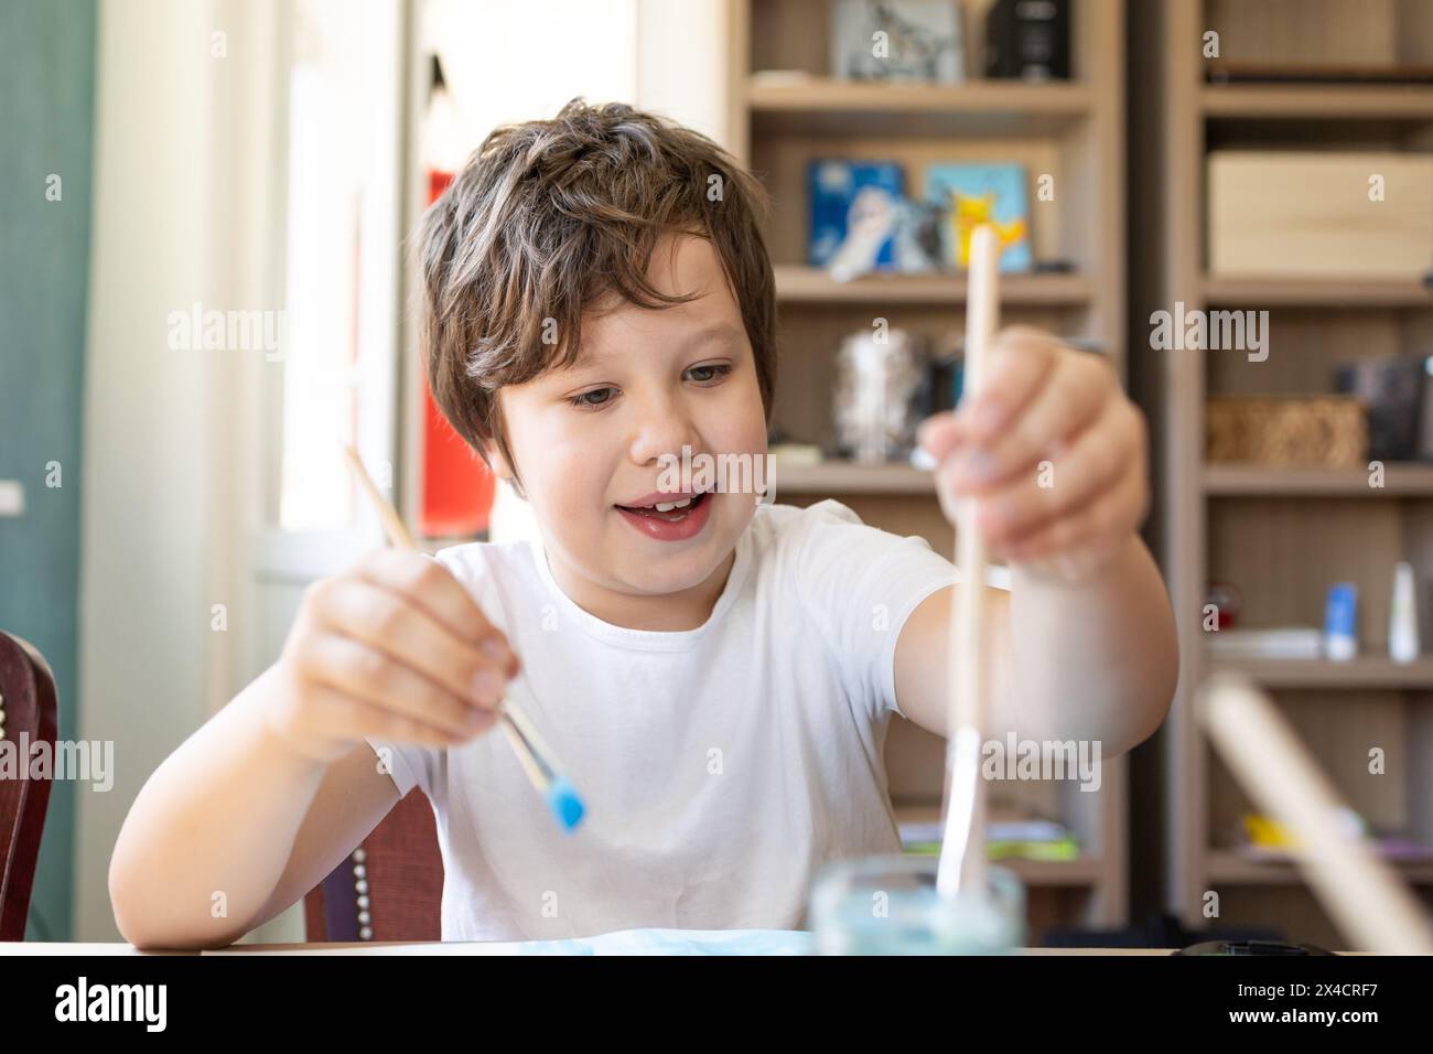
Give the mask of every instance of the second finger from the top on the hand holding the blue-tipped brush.
M 507 668 L 403 594 L 361 578 L 335 578 L 318 591 L 315 614 L 331 630 L 413 667 L 459 698 L 484 706 L 502 698 Z

